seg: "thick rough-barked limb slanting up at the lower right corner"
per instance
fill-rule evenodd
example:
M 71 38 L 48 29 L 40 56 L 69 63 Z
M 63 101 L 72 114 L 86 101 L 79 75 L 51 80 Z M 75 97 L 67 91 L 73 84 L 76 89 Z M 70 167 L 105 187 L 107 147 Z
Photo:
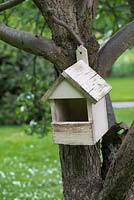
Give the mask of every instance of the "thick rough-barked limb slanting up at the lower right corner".
M 134 123 L 107 173 L 99 200 L 124 200 L 134 182 Z

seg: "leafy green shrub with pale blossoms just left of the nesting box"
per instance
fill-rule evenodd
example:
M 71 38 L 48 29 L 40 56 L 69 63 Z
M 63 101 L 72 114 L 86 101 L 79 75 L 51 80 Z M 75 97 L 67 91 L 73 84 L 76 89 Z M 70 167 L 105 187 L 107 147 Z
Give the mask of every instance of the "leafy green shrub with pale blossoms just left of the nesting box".
M 55 79 L 55 73 L 47 61 L 42 66 L 41 59 L 34 57 L 32 73 L 25 73 L 21 80 L 22 92 L 17 98 L 16 113 L 20 122 L 29 123 L 28 134 L 45 134 L 50 123 L 50 107 L 41 102 L 41 97 Z M 38 67 L 37 67 L 38 66 Z

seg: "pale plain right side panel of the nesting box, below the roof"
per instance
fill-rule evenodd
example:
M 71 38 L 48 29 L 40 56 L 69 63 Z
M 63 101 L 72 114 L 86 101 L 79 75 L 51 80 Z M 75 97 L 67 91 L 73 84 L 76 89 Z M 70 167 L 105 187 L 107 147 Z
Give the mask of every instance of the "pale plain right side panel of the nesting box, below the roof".
M 96 143 L 108 130 L 108 119 L 107 119 L 105 97 L 103 97 L 96 104 L 92 104 L 92 116 L 93 116 L 93 138 L 94 138 L 94 143 Z

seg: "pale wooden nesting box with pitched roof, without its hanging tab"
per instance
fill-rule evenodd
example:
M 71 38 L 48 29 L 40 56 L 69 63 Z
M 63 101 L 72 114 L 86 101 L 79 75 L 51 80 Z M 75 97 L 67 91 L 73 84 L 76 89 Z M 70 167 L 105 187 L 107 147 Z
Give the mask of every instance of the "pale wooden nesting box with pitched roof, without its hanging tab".
M 64 70 L 43 97 L 51 104 L 54 143 L 94 145 L 108 130 L 105 95 L 110 90 L 82 60 Z

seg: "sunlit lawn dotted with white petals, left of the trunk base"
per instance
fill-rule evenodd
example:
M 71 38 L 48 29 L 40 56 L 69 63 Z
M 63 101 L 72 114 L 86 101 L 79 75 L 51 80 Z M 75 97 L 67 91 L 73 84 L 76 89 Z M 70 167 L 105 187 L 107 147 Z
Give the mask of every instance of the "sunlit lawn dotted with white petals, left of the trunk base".
M 0 200 L 61 200 L 58 148 L 49 134 L 0 127 Z

